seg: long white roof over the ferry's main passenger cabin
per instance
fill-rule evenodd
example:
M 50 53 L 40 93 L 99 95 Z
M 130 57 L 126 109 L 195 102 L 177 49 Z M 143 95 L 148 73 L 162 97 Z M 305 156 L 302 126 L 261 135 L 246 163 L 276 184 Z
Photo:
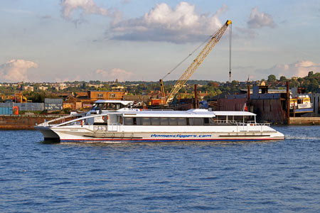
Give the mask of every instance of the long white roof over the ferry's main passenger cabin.
M 212 118 L 215 116 L 255 116 L 252 112 L 247 111 L 208 111 L 208 109 L 189 109 L 187 111 L 172 111 L 172 110 L 127 110 L 119 109 L 117 112 L 123 116 L 134 117 L 206 117 Z

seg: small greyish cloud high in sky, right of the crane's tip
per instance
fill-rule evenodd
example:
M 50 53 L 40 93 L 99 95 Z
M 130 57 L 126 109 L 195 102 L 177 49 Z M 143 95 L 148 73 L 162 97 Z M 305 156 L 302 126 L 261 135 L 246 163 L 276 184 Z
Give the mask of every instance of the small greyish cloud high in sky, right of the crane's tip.
M 260 13 L 257 6 L 252 9 L 249 20 L 247 21 L 249 28 L 262 28 L 264 26 L 274 27 L 274 21 L 272 16 L 268 13 Z

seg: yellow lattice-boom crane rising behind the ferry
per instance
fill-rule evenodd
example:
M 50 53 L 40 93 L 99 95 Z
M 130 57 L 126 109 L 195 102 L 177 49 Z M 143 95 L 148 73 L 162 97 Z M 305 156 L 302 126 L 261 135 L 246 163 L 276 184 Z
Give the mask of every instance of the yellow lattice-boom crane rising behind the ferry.
M 171 92 L 169 93 L 168 97 L 166 98 L 166 104 L 168 104 L 169 102 L 171 102 L 174 99 L 174 95 L 181 89 L 181 87 L 183 87 L 184 84 L 186 84 L 186 81 L 191 77 L 191 75 L 193 75 L 193 72 L 196 71 L 198 66 L 201 65 L 203 60 L 207 57 L 207 55 L 210 53 L 210 51 L 213 49 L 213 47 L 218 43 L 218 41 L 222 37 L 223 33 L 225 33 L 225 30 L 228 28 L 228 26 L 231 23 L 232 23 L 232 21 L 230 21 L 230 20 L 226 21 L 225 24 L 217 31 L 217 33 L 215 33 L 215 35 L 211 36 L 210 40 L 208 41 L 206 46 L 203 48 L 203 50 L 201 50 L 201 52 L 196 57 L 196 59 L 193 60 L 191 65 L 189 65 L 188 69 L 186 69 L 186 71 L 183 72 L 183 75 L 181 75 L 181 77 L 178 79 L 176 84 L 174 84 L 174 87 L 171 89 Z M 231 33 L 230 33 L 230 38 L 231 38 Z M 229 47 L 231 47 L 231 43 L 229 43 L 229 45 L 230 45 Z M 230 54 L 230 52 L 229 52 L 229 54 Z M 231 63 L 231 55 L 229 55 L 229 57 L 230 57 L 229 62 Z M 170 74 L 170 72 L 168 74 Z M 231 77 L 231 66 L 230 66 L 229 75 Z M 163 79 L 161 79 L 161 80 L 159 80 L 159 82 L 160 82 L 162 96 L 165 97 L 166 94 L 164 92 L 164 81 L 163 81 Z

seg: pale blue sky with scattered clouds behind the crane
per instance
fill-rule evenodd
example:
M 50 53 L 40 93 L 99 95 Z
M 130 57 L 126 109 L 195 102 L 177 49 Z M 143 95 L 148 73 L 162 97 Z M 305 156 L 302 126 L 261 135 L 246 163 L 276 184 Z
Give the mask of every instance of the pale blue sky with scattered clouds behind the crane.
M 227 20 L 231 80 L 320 72 L 319 0 L 0 0 L 0 82 L 158 81 Z M 192 80 L 229 80 L 229 33 Z

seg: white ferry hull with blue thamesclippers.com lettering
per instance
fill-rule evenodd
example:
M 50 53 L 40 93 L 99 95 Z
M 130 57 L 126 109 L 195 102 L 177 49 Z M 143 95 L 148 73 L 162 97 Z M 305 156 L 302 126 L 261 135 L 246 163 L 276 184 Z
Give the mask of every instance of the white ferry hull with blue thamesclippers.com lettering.
M 107 126 L 82 126 L 74 128 L 36 127 L 43 133 L 45 140 L 61 142 L 147 142 L 147 141 L 260 141 L 280 140 L 284 136 L 269 126 L 218 126 L 220 131 L 151 131 L 119 132 L 105 131 Z M 161 126 L 160 126 L 161 129 Z M 172 127 L 171 127 L 172 129 Z M 196 128 L 198 129 L 198 128 Z M 205 128 L 206 129 L 206 128 Z M 225 131 L 228 129 L 229 131 Z M 238 131 L 237 131 L 238 129 Z M 248 130 L 250 129 L 250 131 Z M 261 129 L 264 129 L 261 131 Z

